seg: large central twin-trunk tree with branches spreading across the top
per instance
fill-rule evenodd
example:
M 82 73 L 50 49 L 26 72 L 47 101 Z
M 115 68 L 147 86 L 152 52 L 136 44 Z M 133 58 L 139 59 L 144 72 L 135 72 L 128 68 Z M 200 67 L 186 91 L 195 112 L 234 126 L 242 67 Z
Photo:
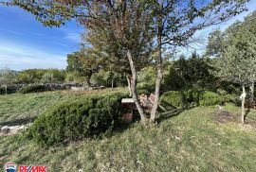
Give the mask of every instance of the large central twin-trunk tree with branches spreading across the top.
M 145 46 L 152 35 L 155 36 L 157 56 L 155 58 L 157 77 L 155 81 L 155 103 L 151 112 L 151 120 L 155 121 L 155 113 L 159 101 L 159 89 L 162 80 L 163 54 L 165 46 L 174 49 L 186 46 L 190 38 L 200 29 L 226 21 L 246 9 L 247 0 L 142 0 L 142 1 L 70 1 L 46 0 L 27 1 L 12 0 L 7 5 L 18 6 L 36 15 L 37 20 L 46 26 L 60 26 L 64 21 L 78 18 L 82 25 L 90 28 L 92 24 L 103 26 L 106 32 L 113 32 L 125 48 L 132 72 L 132 91 L 137 110 L 143 122 L 147 116 L 142 111 L 137 99 L 137 70 L 134 61 L 137 49 Z M 200 4 L 200 6 L 198 6 Z M 151 25 L 153 22 L 154 26 Z M 84 25 L 85 24 L 85 25 Z M 95 26 L 95 25 L 94 25 Z M 153 28 L 151 32 L 150 28 Z

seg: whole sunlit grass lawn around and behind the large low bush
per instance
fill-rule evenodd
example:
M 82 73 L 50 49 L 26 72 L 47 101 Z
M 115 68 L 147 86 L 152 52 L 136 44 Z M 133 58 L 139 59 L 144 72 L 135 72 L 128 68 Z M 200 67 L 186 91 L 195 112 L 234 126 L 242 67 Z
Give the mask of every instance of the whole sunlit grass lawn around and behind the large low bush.
M 100 91 L 101 92 L 107 92 Z M 99 92 L 99 91 L 98 91 Z M 93 91 L 86 94 L 97 94 Z M 1 123 L 36 117 L 69 92 L 1 96 Z M 5 98 L 5 100 L 4 100 Z M 26 102 L 26 103 L 25 103 Z M 170 113 L 157 125 L 134 123 L 112 136 L 42 147 L 22 133 L 0 136 L 0 166 L 46 165 L 47 171 L 255 171 L 256 129 L 239 124 L 240 109 L 227 105 Z M 247 121 L 254 121 L 250 111 Z

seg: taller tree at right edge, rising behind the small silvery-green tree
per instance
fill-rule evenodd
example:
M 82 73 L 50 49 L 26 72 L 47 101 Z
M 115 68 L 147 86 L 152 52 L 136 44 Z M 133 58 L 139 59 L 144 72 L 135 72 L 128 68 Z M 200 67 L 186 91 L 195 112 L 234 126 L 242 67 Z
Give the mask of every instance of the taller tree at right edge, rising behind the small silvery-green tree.
M 207 56 L 219 57 L 229 46 L 251 52 L 251 47 L 256 43 L 256 12 L 249 14 L 243 22 L 236 22 L 229 26 L 223 33 L 219 30 L 213 31 L 209 38 Z M 216 34 L 217 33 L 217 34 Z M 214 53 L 209 53 L 214 52 Z M 254 76 L 255 74 L 252 74 Z M 255 77 L 251 77 L 250 90 L 251 101 L 254 101 L 254 82 Z

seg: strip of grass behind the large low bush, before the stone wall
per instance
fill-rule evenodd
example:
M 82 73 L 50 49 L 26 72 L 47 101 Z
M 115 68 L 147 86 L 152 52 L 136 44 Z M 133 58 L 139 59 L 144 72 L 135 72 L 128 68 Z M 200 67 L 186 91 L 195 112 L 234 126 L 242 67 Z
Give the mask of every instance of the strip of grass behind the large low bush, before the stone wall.
M 115 90 L 123 89 L 118 88 Z M 48 108 L 54 106 L 54 104 L 60 103 L 67 98 L 102 94 L 109 91 L 110 89 L 86 92 L 57 91 L 26 95 L 0 95 L 0 126 L 27 124 Z

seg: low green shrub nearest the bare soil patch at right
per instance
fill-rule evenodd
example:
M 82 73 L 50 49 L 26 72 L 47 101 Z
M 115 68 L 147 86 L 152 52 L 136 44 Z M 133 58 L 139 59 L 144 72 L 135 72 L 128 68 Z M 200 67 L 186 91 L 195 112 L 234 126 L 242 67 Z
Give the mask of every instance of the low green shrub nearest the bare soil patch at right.
M 213 92 L 205 91 L 200 95 L 199 104 L 201 106 L 220 105 L 223 104 L 223 98 Z

